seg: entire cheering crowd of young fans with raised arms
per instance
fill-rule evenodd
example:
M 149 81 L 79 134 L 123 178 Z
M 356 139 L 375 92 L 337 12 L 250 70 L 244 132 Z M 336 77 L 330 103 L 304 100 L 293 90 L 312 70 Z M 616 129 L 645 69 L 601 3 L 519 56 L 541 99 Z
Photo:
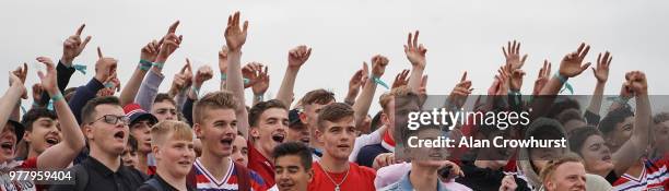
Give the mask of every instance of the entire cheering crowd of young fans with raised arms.
M 520 93 L 529 84 L 523 83 L 528 56 L 520 52 L 520 43 L 509 41 L 502 48 L 506 62 L 488 89 L 494 98 L 481 96 L 474 108 L 531 108 L 528 127 L 502 135 L 566 138 L 568 147 L 491 147 L 445 159 L 421 148 L 396 151 L 396 143 L 402 144 L 397 139 L 429 139 L 446 131 L 396 127 L 396 114 L 420 110 L 426 96 L 427 49 L 418 31 L 409 33 L 403 47 L 410 70 L 388 86 L 380 79 L 389 61 L 373 56 L 371 65 L 354 72 L 345 98 L 338 102 L 322 88 L 293 92 L 312 53 L 307 46 L 289 51 L 277 96 L 265 97 L 268 65 L 240 63 L 249 23 L 242 22 L 239 12 L 227 21 L 220 73 L 214 65 L 195 70 L 186 60 L 169 91 L 159 93 L 168 75 L 162 69 L 177 67 L 166 61 L 183 40 L 178 24 L 141 48 L 127 82 L 117 77 L 117 60 L 98 47 L 95 76 L 83 85 L 70 83 L 81 70 L 72 62 L 91 40 L 82 40 L 85 25 L 64 40 L 57 63 L 37 58 L 46 71 L 38 72 L 40 83 L 32 94 L 24 84 L 27 64 L 9 72 L 10 86 L 0 99 L 0 121 L 7 121 L 0 129 L 1 190 L 669 190 L 669 112 L 650 110 L 646 75 L 631 71 L 620 96 L 600 117 L 612 56 L 599 53 L 591 65 L 586 61 L 589 45 L 564 56 L 556 72 L 544 61 L 528 99 Z M 555 98 L 570 88 L 568 79 L 588 68 L 597 85 L 587 108 Z M 221 75 L 221 88 L 200 89 L 214 74 Z M 81 86 L 69 87 L 73 85 Z M 379 85 L 389 89 L 375 102 Z M 246 105 L 246 88 L 254 94 L 251 105 Z M 204 91 L 211 93 L 200 94 Z M 444 107 L 462 108 L 471 91 L 465 73 Z M 33 107 L 21 112 L 28 94 Z M 382 110 L 371 114 L 375 103 Z M 449 134 L 481 140 L 500 135 L 476 126 L 458 126 Z M 396 159 L 396 152 L 430 157 Z M 72 183 L 36 184 L 7 176 L 22 169 L 67 169 L 75 178 Z

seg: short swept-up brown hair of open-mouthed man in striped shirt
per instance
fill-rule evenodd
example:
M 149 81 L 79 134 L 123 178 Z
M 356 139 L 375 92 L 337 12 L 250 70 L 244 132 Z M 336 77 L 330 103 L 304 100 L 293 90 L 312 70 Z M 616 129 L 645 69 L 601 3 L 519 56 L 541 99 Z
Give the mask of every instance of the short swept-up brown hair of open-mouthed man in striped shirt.
M 192 108 L 193 123 L 202 123 L 204 120 L 204 110 L 208 109 L 233 109 L 237 108 L 237 99 L 230 92 L 212 92 L 197 103 Z

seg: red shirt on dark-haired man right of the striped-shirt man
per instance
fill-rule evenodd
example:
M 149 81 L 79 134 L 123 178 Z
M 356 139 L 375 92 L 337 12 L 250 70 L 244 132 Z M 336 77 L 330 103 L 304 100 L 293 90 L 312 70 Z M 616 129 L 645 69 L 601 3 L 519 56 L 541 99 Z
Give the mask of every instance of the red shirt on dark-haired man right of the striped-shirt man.
M 248 169 L 262 177 L 266 188 L 271 188 L 274 186 L 274 164 L 262 156 L 250 141 L 247 141 L 246 144 L 248 145 Z

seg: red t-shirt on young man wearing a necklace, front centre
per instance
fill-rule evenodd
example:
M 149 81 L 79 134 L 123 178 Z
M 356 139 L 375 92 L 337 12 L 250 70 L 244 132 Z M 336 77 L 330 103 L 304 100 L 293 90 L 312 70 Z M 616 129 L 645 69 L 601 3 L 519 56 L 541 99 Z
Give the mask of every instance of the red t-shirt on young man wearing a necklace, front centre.
M 318 162 L 314 162 L 314 180 L 309 182 L 307 190 L 334 190 L 334 182 L 340 183 L 342 179 L 347 175 L 347 172 L 341 174 L 331 174 L 322 170 L 320 164 Z M 347 179 L 339 186 L 340 190 L 356 190 L 356 191 L 373 191 L 374 189 L 374 179 L 376 178 L 376 171 L 372 168 L 365 166 L 357 166 L 354 163 L 349 163 L 349 175 Z

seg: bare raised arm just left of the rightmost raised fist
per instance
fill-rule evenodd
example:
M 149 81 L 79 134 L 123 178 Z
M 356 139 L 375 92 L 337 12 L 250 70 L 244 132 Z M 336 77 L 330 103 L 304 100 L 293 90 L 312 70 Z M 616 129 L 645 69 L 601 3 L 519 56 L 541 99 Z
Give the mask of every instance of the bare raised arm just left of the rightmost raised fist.
M 590 105 L 587 108 L 587 111 L 594 114 L 594 118 L 591 119 L 586 115 L 586 120 L 588 124 L 597 124 L 599 123 L 599 110 L 601 109 L 601 99 L 603 98 L 603 88 L 607 84 L 607 80 L 609 79 L 609 64 L 611 64 L 611 59 L 609 51 L 607 51 L 603 57 L 601 53 L 597 57 L 597 68 L 592 68 L 592 73 L 597 79 L 597 85 L 595 86 L 595 92 L 592 93 L 592 97 L 590 98 Z M 596 120 L 596 121 L 595 121 Z

